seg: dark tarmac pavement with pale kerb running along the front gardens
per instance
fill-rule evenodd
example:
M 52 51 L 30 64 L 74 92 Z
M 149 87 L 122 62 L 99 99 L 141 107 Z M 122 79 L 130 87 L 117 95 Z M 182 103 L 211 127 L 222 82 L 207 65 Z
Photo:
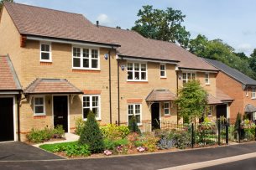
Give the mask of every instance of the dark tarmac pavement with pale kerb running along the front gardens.
M 31 146 L 29 146 L 31 147 Z M 34 147 L 35 148 L 35 147 Z M 36 148 L 38 149 L 38 148 Z M 0 152 L 2 152 L 0 148 Z M 38 151 L 38 150 L 37 150 Z M 24 154 L 22 154 L 24 155 Z M 240 157 L 240 158 L 239 158 Z M 241 159 L 243 157 L 243 159 Z M 232 145 L 227 147 L 212 147 L 191 149 L 180 152 L 152 153 L 122 157 L 102 157 L 85 159 L 61 159 L 54 157 L 51 160 L 11 159 L 0 161 L 0 169 L 169 169 L 179 166 L 187 166 L 189 169 L 202 167 L 190 167 L 195 164 L 206 165 L 207 162 L 217 161 L 218 164 L 227 163 L 227 159 L 236 159 L 235 162 L 246 161 L 247 158 L 256 157 L 256 142 Z M 218 164 L 209 164 L 215 166 Z M 228 163 L 227 163 L 228 164 Z M 208 167 L 206 166 L 205 169 Z M 212 167 L 209 167 L 212 168 Z M 255 169 L 255 168 L 254 168 Z

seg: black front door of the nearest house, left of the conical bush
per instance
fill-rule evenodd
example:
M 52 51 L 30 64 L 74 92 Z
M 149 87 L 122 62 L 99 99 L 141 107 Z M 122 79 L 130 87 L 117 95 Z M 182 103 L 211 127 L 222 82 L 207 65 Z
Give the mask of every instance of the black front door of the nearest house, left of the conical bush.
M 68 132 L 68 97 L 66 95 L 54 96 L 54 125 L 63 126 L 65 132 Z

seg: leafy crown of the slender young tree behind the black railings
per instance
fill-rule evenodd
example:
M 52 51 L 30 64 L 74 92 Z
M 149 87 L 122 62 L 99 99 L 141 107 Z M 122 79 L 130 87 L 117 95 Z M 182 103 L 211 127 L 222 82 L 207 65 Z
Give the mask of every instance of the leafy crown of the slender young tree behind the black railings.
M 207 106 L 206 90 L 201 87 L 199 81 L 191 80 L 179 90 L 175 103 L 179 107 L 179 116 L 194 121 L 201 118 Z

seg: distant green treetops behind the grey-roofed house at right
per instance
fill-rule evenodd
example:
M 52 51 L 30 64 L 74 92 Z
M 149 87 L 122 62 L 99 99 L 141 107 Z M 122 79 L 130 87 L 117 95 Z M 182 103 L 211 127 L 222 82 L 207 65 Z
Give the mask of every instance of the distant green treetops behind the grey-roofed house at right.
M 256 57 L 249 59 L 244 53 L 235 53 L 235 50 L 221 39 L 208 40 L 206 36 L 199 34 L 196 39 L 190 40 L 189 50 L 199 57 L 216 59 L 251 78 L 256 78 Z

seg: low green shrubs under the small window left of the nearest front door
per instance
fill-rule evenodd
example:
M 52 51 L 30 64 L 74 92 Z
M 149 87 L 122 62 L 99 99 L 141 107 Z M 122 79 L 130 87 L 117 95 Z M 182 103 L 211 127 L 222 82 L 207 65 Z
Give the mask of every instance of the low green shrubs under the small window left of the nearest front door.
M 62 138 L 65 136 L 65 131 L 62 126 L 57 126 L 55 129 L 44 127 L 43 130 L 37 130 L 32 128 L 32 130 L 27 135 L 29 142 L 39 143 L 46 142 L 52 138 Z

